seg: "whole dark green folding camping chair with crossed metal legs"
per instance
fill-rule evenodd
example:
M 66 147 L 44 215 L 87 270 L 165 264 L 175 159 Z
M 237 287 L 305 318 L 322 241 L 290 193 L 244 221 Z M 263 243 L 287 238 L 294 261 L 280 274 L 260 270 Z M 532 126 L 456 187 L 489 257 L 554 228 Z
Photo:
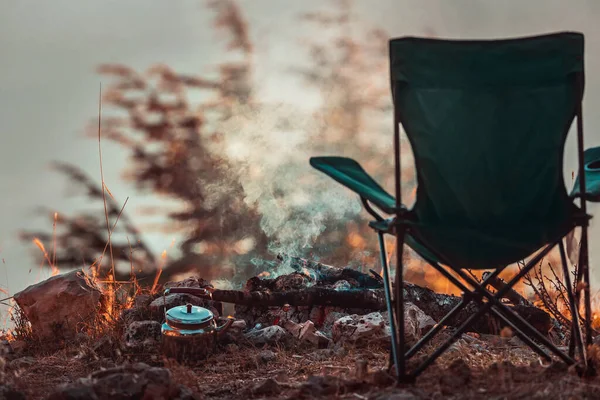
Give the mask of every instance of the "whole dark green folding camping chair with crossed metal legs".
M 379 236 L 391 360 L 398 380 L 414 381 L 486 312 L 544 359 L 551 360 L 549 350 L 574 364 L 577 349 L 585 363 L 579 289 L 584 293 L 585 342 L 590 344 L 587 227 L 591 217 L 586 200 L 600 200 L 596 165 L 600 148 L 584 153 L 583 35 L 566 32 L 476 41 L 406 37 L 392 39 L 389 49 L 395 197 L 354 160 L 314 157 L 310 163 L 356 192 L 375 218 L 370 226 Z M 569 194 L 563 178 L 563 150 L 575 116 L 579 172 Z M 401 199 L 400 124 L 416 166 L 418 186 L 411 209 Z M 374 207 L 391 217 L 384 219 Z M 576 227 L 582 234 L 573 285 L 563 238 Z M 396 237 L 394 298 L 384 234 Z M 401 290 L 405 243 L 464 292 L 461 302 L 410 349 L 404 340 Z M 573 320 L 568 354 L 501 302 L 555 246 L 560 251 L 565 287 L 578 288 L 568 293 Z M 509 265 L 527 257 L 531 258 L 503 289 L 495 293 L 487 289 Z M 482 282 L 465 272 L 483 269 L 492 271 Z M 456 325 L 447 341 L 408 371 L 406 361 L 470 302 L 479 305 L 478 311 Z

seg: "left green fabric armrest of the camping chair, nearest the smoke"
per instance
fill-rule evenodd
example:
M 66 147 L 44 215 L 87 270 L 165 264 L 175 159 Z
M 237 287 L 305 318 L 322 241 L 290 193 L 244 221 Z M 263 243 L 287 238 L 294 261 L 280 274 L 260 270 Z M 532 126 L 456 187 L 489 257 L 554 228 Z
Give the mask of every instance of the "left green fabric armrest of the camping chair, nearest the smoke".
M 356 161 L 346 157 L 312 157 L 310 165 L 370 201 L 388 214 L 394 214 L 396 199 L 387 193 Z

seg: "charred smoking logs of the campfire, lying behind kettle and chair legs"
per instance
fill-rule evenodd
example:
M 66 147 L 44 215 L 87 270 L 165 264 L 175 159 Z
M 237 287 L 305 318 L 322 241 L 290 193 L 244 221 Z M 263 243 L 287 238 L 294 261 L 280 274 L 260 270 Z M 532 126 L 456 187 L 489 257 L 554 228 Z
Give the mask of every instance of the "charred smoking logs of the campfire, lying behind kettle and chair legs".
M 350 313 L 360 313 L 360 310 L 366 313 L 386 310 L 383 283 L 372 274 L 365 274 L 351 268 L 336 268 L 296 257 L 280 256 L 279 259 L 288 263 L 298 272 L 281 275 L 275 279 L 251 278 L 246 283 L 244 290 L 220 290 L 212 287 L 186 288 L 185 290 L 200 298 L 255 309 L 259 315 L 260 313 L 268 314 L 270 307 L 281 308 L 287 305 L 296 309 L 304 309 L 303 316 L 299 317 L 296 322 L 301 323 L 309 318 L 319 327 L 325 320 L 325 316 L 315 314 L 310 317 L 310 313 L 315 310 L 320 310 L 321 314 L 325 308 L 337 308 L 340 311 L 352 310 Z M 177 293 L 179 288 L 170 290 L 171 293 Z M 515 292 L 515 294 L 517 293 Z M 404 285 L 404 299 L 407 303 L 413 303 L 436 321 L 441 320 L 461 301 L 461 297 L 436 293 L 431 289 L 411 283 Z M 531 304 L 523 304 L 520 296 L 519 298 L 513 296 L 513 300 L 517 302 L 512 307 L 517 314 L 540 332 L 544 334 L 549 332 L 552 327 L 552 319 L 545 311 Z M 448 325 L 457 326 L 461 321 L 477 312 L 477 309 L 477 304 L 470 303 L 455 318 L 449 320 Z M 275 321 L 279 321 L 279 318 L 256 318 L 249 315 L 248 320 L 251 324 L 256 322 L 277 323 Z M 473 329 L 480 333 L 498 334 L 503 327 L 501 321 L 490 315 L 481 318 Z

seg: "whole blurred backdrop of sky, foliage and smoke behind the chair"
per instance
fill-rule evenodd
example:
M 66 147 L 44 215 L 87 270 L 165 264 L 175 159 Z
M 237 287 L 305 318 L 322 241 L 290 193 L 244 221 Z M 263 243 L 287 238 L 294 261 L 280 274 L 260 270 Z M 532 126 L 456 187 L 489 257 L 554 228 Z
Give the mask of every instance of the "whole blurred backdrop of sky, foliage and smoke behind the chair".
M 160 269 L 160 281 L 195 273 L 233 286 L 282 272 L 277 254 L 377 266 L 358 199 L 308 158 L 353 157 L 392 189 L 390 37 L 583 32 L 586 146 L 600 145 L 593 0 L 0 0 L 0 10 L 6 297 L 57 269 L 107 273 L 111 259 L 115 279 L 149 282 Z M 575 154 L 571 135 L 568 183 Z M 446 288 L 418 262 L 410 273 Z

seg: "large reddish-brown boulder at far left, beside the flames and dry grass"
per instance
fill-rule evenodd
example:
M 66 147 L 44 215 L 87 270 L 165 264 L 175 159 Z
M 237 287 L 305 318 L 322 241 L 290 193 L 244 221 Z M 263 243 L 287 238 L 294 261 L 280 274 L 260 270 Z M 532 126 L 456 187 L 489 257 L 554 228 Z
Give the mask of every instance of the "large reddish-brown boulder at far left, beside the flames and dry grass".
M 102 292 L 82 270 L 53 276 L 15 294 L 14 299 L 43 339 L 70 339 L 100 309 Z

